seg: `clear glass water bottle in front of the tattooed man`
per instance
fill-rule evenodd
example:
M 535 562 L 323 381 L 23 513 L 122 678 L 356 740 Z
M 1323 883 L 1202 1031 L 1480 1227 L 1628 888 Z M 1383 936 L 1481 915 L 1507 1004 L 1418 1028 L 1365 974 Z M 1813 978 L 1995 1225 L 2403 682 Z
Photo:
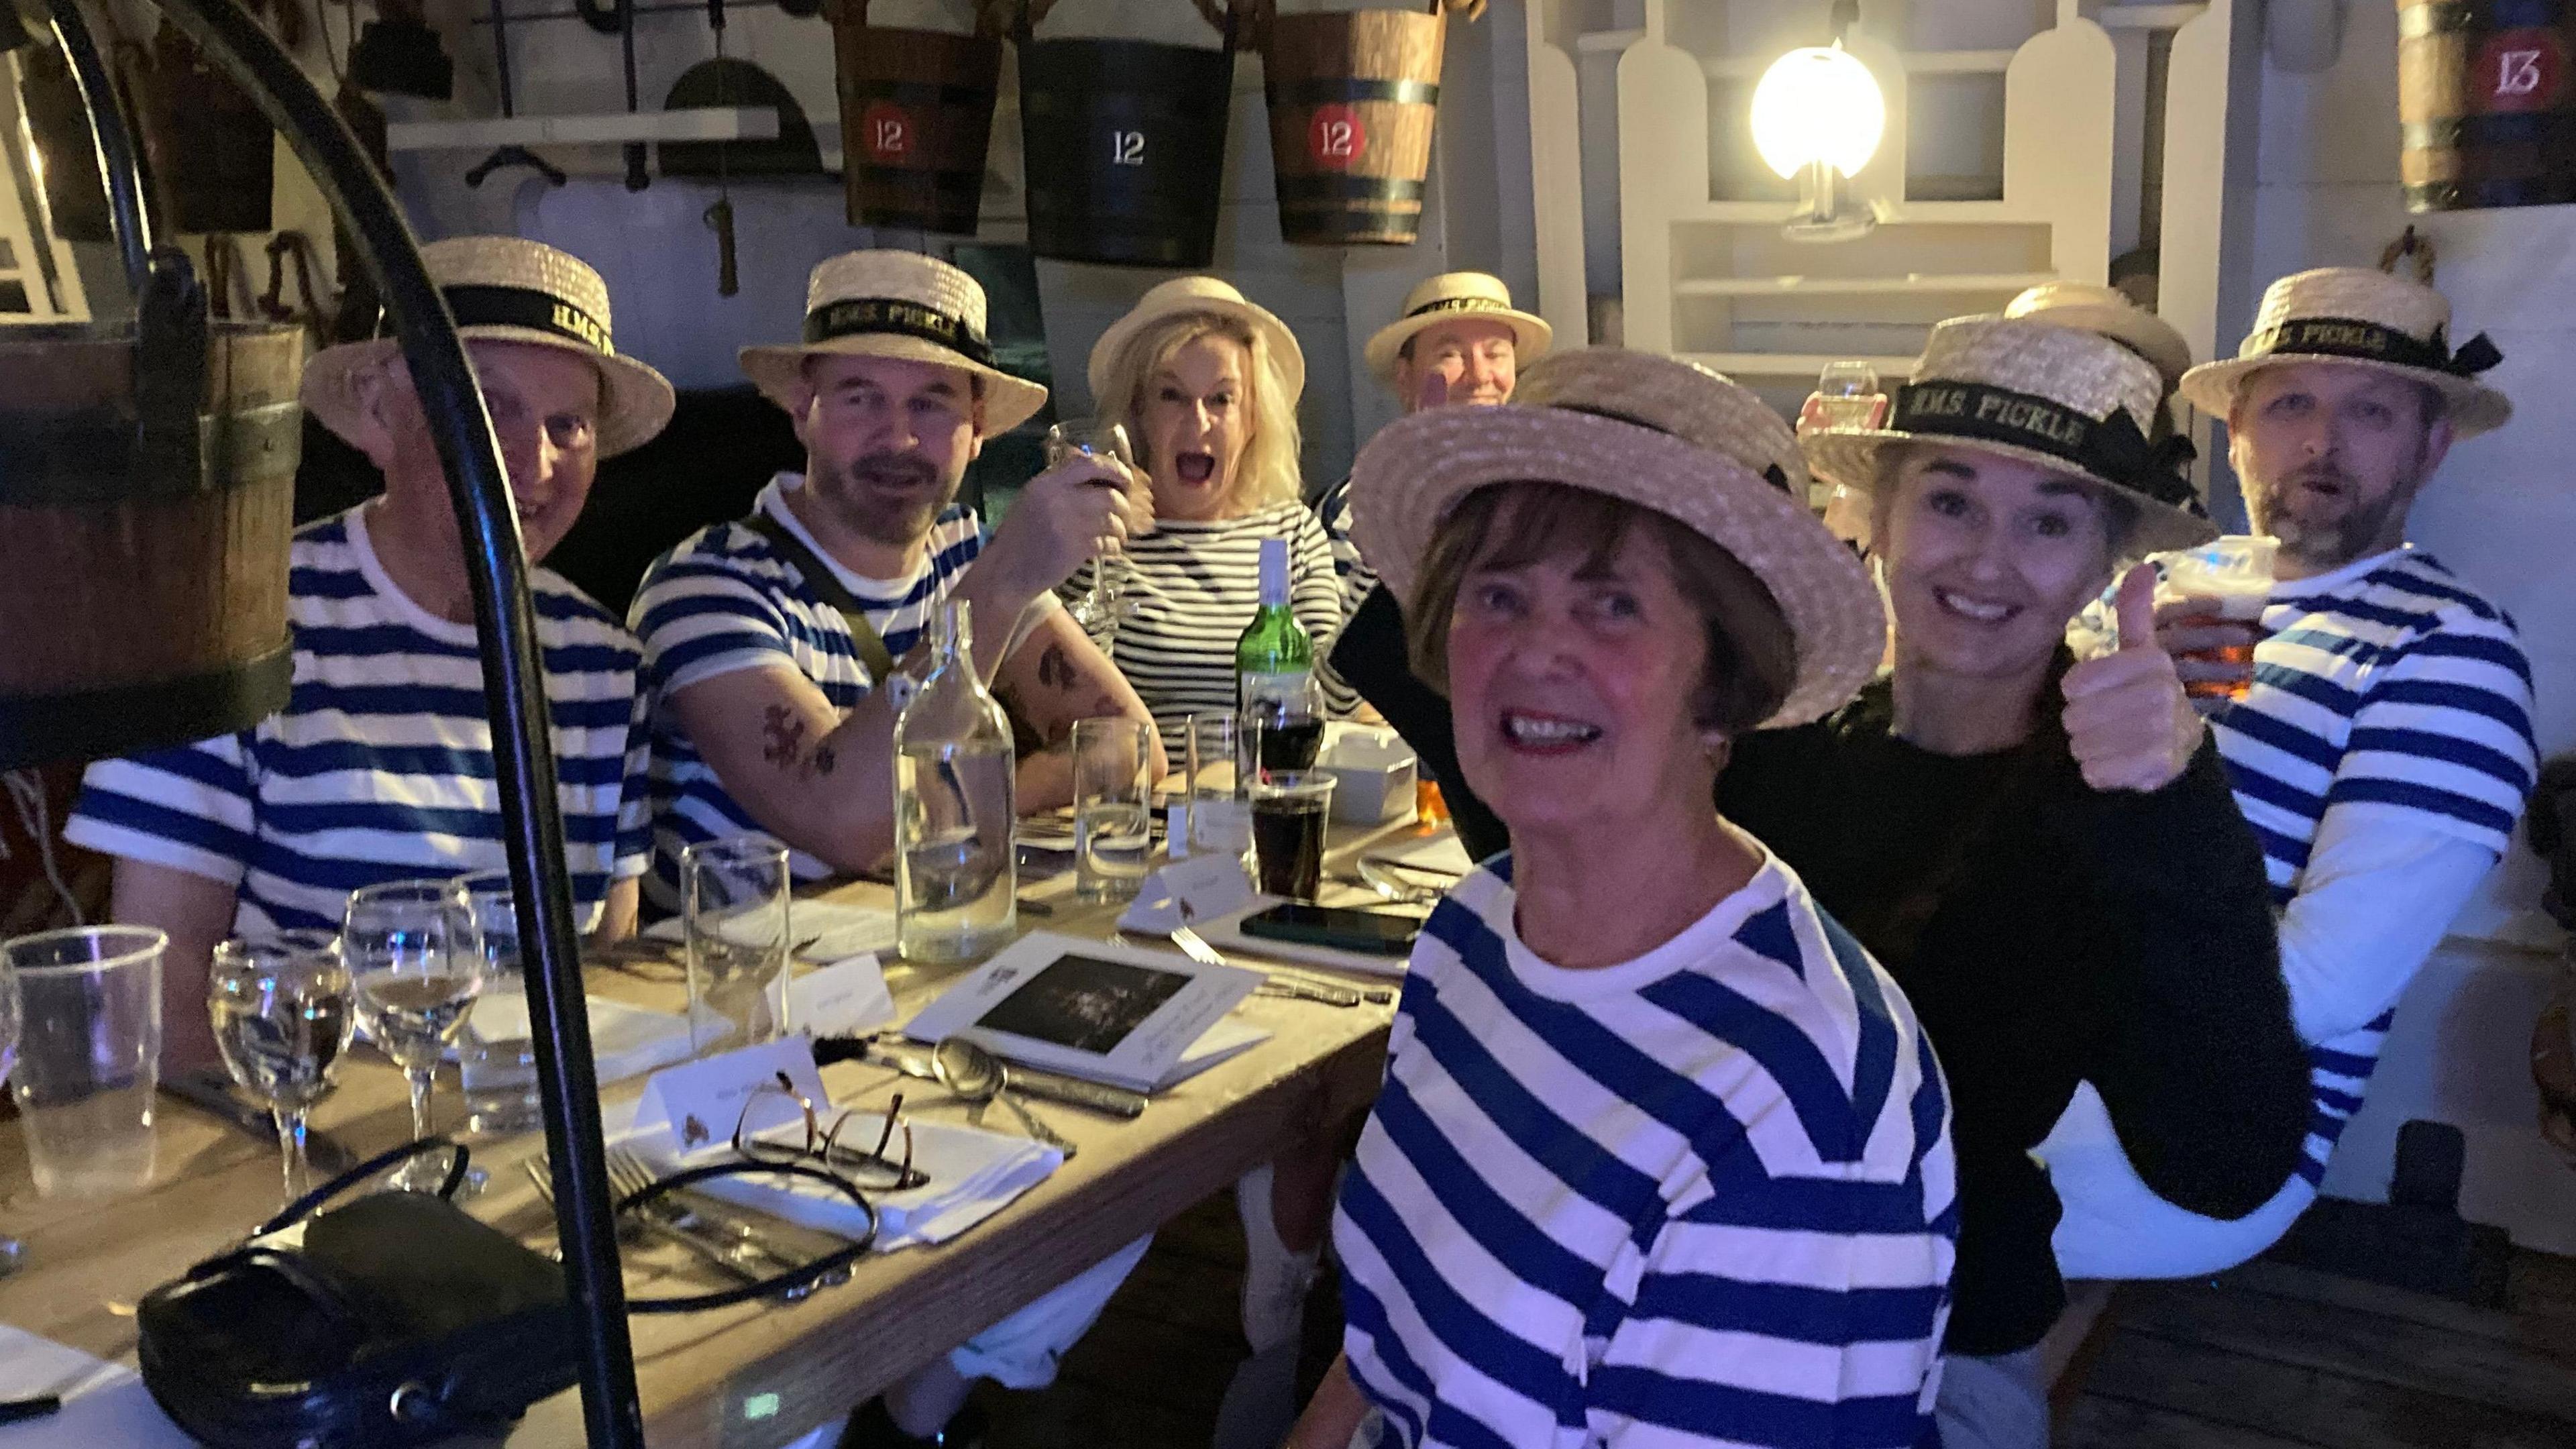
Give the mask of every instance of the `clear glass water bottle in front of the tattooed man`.
M 907 962 L 971 962 L 1018 931 L 1010 717 L 974 670 L 966 601 L 930 627 L 930 676 L 894 722 L 894 923 Z

